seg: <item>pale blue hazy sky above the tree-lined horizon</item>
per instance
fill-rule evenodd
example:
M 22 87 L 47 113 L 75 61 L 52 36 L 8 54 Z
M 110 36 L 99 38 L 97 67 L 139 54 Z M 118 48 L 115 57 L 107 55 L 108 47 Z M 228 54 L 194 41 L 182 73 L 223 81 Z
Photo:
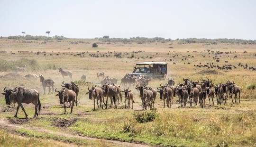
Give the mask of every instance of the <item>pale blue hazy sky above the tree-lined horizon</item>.
M 0 0 L 0 36 L 256 40 L 256 0 Z

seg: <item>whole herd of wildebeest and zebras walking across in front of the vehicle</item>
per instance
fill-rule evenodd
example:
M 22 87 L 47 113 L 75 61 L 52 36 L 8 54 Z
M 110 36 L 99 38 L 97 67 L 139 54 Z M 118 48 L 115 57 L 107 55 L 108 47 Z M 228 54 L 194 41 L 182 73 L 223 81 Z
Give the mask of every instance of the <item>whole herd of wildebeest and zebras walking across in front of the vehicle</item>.
M 59 68 L 60 72 L 63 70 Z M 62 73 L 63 75 L 63 73 Z M 72 77 L 72 72 L 67 72 L 67 74 Z M 63 75 L 63 77 L 65 76 Z M 97 77 L 104 77 L 104 72 L 97 73 Z M 43 90 L 45 94 L 46 87 L 49 87 L 48 94 L 51 94 L 54 90 L 55 81 L 52 79 L 44 79 L 43 75 L 39 75 L 40 82 L 42 82 Z M 133 79 L 133 80 L 131 80 Z M 132 82 L 125 82 L 132 81 Z M 121 105 L 122 102 L 122 92 L 125 96 L 125 108 L 129 109 L 130 104 L 134 102 L 134 93 L 129 90 L 129 87 L 125 88 L 127 84 L 134 87 L 139 91 L 139 97 L 141 98 L 142 110 L 152 110 L 155 107 L 155 98 L 157 93 L 159 93 L 159 98 L 167 107 L 174 105 L 174 97 L 178 97 L 175 103 L 180 104 L 182 107 L 186 107 L 187 102 L 190 106 L 192 103 L 194 106 L 200 104 L 201 108 L 205 107 L 205 99 L 209 98 L 209 104 L 214 105 L 214 97 L 216 97 L 217 105 L 227 104 L 227 100 L 231 99 L 232 103 L 240 103 L 240 92 L 241 88 L 238 87 L 235 82 L 227 81 L 226 83 L 214 84 L 210 79 L 200 79 L 197 81 L 192 81 L 190 78 L 184 79 L 183 83 L 179 83 L 175 86 L 174 79 L 168 79 L 165 84 L 160 84 L 156 89 L 148 86 L 149 79 L 145 77 L 135 78 L 127 74 L 122 80 L 120 85 L 117 84 L 117 79 L 115 78 L 105 78 L 101 82 L 101 86 L 92 86 L 89 88 L 86 94 L 89 95 L 89 99 L 93 99 L 93 110 L 95 110 L 95 104 L 101 109 L 105 106 L 105 109 L 108 108 L 108 98 L 110 97 L 110 107 L 114 105 L 114 108 L 117 108 L 118 105 Z M 74 82 L 64 83 L 62 82 L 62 88 L 60 90 L 55 89 L 57 93 L 56 96 L 59 97 L 60 104 L 64 105 L 64 114 L 66 114 L 66 107 L 69 103 L 71 107 L 71 112 L 73 112 L 73 106 L 76 104 L 78 106 L 77 97 L 79 94 L 79 86 Z M 122 85 L 122 86 L 121 86 Z M 122 90 L 123 89 L 123 90 Z M 17 117 L 18 109 L 21 107 L 25 116 L 27 118 L 27 113 L 22 105 L 22 103 L 32 103 L 35 105 L 35 115 L 38 116 L 41 108 L 41 103 L 39 100 L 39 92 L 35 89 L 29 89 L 24 87 L 15 87 L 12 89 L 4 88 L 6 104 L 15 104 L 18 103 L 17 112 L 14 117 Z M 233 100 L 233 95 L 235 95 Z M 106 100 L 104 100 L 106 98 Z M 95 100 L 97 100 L 95 102 Z M 126 103 L 126 101 L 128 101 Z M 210 103 L 211 101 L 211 103 Z

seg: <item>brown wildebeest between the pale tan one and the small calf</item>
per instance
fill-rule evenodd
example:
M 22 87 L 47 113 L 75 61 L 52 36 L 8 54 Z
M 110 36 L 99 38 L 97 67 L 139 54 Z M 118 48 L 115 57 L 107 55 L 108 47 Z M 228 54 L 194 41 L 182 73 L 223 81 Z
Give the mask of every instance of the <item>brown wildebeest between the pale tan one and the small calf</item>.
M 116 86 L 113 86 L 113 85 L 109 85 L 109 84 L 104 84 L 102 86 L 102 89 L 105 90 L 105 97 L 107 97 L 106 99 L 106 109 L 108 107 L 108 100 L 109 100 L 109 97 L 110 98 L 113 98 L 113 102 L 115 104 L 115 108 L 117 108 L 117 97 L 118 97 L 118 90 L 117 90 L 117 87 Z M 112 101 L 112 100 L 111 100 Z M 111 107 L 111 105 L 110 105 Z

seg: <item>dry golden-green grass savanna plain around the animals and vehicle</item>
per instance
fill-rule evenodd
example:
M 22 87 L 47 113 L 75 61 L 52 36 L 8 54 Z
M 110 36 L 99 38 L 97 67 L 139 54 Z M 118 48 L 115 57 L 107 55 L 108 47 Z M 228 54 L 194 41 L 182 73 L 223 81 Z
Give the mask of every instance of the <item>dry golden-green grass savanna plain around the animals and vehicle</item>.
M 92 48 L 94 42 L 97 42 L 97 48 Z M 33 118 L 35 108 L 32 104 L 23 105 L 28 119 L 24 119 L 21 109 L 18 118 L 13 118 L 17 105 L 7 106 L 4 95 L 1 95 L 1 146 L 256 146 L 256 71 L 248 69 L 250 66 L 256 67 L 255 44 L 180 44 L 176 41 L 138 44 L 101 42 L 96 39 L 23 41 L 2 38 L 0 51 L 0 89 L 16 86 L 37 89 L 42 105 L 36 118 Z M 217 55 L 219 62 L 216 62 L 213 57 L 218 51 L 223 53 Z M 166 79 L 149 81 L 148 86 L 152 88 L 167 83 L 167 78 L 174 78 L 175 86 L 183 83 L 183 78 L 192 81 L 209 78 L 214 84 L 229 80 L 242 89 L 240 103 L 233 104 L 228 98 L 226 105 L 217 105 L 214 97 L 213 105 L 206 98 L 203 109 L 193 104 L 181 107 L 178 98 L 174 97 L 174 105 L 163 108 L 163 101 L 158 94 L 154 111 L 142 111 L 139 91 L 135 86 L 130 86 L 129 90 L 134 93 L 133 109 L 125 109 L 123 95 L 117 109 L 100 109 L 96 106 L 93 111 L 93 101 L 86 92 L 87 86 L 99 85 L 102 80 L 97 78 L 97 72 L 104 71 L 105 76 L 117 78 L 120 84 L 121 78 L 126 73 L 132 73 L 136 63 L 143 61 L 168 63 Z M 248 68 L 238 66 L 239 62 L 247 64 Z M 200 63 L 230 64 L 237 68 L 220 70 L 197 67 Z M 24 72 L 15 72 L 16 67 L 24 65 Z M 80 88 L 78 106 L 74 106 L 72 114 L 69 114 L 70 108 L 67 108 L 68 114 L 64 114 L 56 92 L 47 95 L 46 88 L 46 95 L 43 95 L 39 78 L 25 77 L 29 73 L 42 74 L 46 79 L 54 79 L 55 88 L 60 90 L 63 81 L 71 80 L 68 77 L 63 79 L 58 67 L 72 71 L 72 81 Z M 85 81 L 80 80 L 82 74 L 86 75 Z M 154 119 L 139 122 L 139 114 L 144 117 L 153 115 Z

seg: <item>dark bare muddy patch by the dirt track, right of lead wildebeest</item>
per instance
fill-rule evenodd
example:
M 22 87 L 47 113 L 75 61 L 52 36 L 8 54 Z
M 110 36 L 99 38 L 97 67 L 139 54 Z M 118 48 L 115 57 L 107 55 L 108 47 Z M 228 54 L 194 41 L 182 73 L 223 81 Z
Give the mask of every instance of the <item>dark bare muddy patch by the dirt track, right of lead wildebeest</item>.
M 72 119 L 64 119 L 64 118 L 57 118 L 57 117 L 52 118 L 52 124 L 58 128 L 67 128 L 72 124 L 74 124 L 76 121 L 77 121 L 77 118 L 72 118 Z

